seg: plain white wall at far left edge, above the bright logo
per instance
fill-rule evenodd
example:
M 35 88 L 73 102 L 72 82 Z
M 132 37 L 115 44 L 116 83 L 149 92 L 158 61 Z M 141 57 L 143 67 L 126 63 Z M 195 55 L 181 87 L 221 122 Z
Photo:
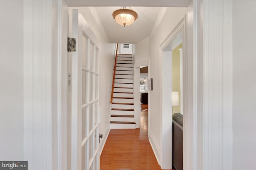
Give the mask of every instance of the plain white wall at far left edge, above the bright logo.
M 23 1 L 0 0 L 0 160 L 23 160 Z

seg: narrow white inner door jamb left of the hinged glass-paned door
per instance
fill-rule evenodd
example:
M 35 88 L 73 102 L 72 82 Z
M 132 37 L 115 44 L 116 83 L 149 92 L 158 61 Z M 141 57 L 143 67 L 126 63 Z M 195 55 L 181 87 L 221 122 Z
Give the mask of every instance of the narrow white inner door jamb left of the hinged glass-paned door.
M 68 11 L 64 10 L 62 0 L 56 2 L 58 13 L 58 69 L 57 69 L 57 129 L 58 129 L 58 170 L 67 170 L 67 114 L 68 114 L 68 52 L 67 41 L 62 41 L 68 35 Z M 66 29 L 62 29 L 66 27 Z

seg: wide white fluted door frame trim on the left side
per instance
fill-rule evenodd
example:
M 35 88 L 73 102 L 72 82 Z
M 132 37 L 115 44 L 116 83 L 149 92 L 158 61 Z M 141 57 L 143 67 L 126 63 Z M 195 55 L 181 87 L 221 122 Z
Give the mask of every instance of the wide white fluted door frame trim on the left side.
M 24 0 L 24 160 L 30 169 L 57 170 L 57 57 L 53 1 Z M 54 8 L 53 8 L 54 7 Z M 55 15 L 56 14 L 56 15 Z M 58 24 L 57 24 L 58 25 Z M 21 44 L 22 45 L 22 44 Z M 61 157 L 60 157 L 61 158 Z

